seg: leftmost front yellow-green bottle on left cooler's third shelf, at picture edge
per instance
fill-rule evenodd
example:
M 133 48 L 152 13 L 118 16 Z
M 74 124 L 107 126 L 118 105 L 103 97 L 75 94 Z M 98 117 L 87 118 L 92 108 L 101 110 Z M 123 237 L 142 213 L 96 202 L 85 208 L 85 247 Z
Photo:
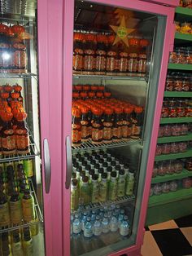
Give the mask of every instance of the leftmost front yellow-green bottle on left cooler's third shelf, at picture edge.
M 10 224 L 9 205 L 7 196 L 0 192 L 0 227 L 5 227 Z

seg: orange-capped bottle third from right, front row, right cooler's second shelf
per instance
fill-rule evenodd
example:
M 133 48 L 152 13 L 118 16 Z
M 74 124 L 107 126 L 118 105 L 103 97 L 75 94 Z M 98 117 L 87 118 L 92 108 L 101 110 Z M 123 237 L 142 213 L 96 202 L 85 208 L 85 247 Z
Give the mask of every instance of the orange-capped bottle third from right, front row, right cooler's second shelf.
M 115 118 L 113 125 L 113 140 L 120 141 L 122 139 L 122 125 L 123 125 L 123 110 L 122 108 L 115 108 Z

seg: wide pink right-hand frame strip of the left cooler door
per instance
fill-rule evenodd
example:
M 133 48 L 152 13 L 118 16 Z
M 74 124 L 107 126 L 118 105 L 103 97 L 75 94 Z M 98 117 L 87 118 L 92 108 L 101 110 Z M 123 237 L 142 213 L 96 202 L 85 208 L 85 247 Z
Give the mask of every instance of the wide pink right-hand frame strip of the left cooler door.
M 63 1 L 37 1 L 38 67 L 41 126 L 42 188 L 46 256 L 63 255 L 61 169 L 61 73 Z M 45 191 L 43 139 L 50 144 L 51 183 Z

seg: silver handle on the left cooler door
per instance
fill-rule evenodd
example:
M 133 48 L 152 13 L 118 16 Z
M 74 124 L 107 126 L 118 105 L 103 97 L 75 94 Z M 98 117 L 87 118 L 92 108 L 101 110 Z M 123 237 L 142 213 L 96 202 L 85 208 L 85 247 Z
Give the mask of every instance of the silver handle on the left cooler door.
M 45 185 L 46 193 L 50 192 L 50 180 L 51 180 L 51 167 L 50 167 L 50 147 L 47 139 L 43 140 L 44 148 L 44 170 L 45 170 Z

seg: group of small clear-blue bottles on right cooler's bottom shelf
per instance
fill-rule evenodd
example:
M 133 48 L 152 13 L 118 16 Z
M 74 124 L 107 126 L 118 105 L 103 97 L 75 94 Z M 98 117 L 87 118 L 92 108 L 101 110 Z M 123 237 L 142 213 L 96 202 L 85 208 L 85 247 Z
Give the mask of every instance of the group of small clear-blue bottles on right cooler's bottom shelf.
M 83 235 L 87 238 L 100 236 L 108 232 L 120 232 L 129 236 L 130 221 L 120 205 L 111 205 L 98 210 L 85 211 L 71 215 L 71 235 Z

